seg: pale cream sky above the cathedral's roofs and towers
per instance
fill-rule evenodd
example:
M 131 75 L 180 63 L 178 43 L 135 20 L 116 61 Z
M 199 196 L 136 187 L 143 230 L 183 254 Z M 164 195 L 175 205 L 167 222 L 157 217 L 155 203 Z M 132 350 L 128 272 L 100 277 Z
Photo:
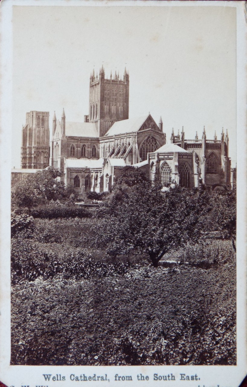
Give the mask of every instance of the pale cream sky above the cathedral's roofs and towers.
M 68 2 L 69 4 L 69 2 Z M 89 78 L 129 71 L 129 118 L 151 115 L 170 143 L 228 129 L 236 163 L 236 10 L 231 7 L 15 6 L 12 166 L 20 168 L 26 112 L 83 121 Z

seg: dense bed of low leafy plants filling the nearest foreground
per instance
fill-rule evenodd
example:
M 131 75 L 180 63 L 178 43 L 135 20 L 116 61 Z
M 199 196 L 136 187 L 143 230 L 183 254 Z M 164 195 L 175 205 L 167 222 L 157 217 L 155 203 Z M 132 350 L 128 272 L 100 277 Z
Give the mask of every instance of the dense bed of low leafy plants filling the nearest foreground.
M 11 363 L 236 364 L 233 265 L 134 272 L 16 285 Z

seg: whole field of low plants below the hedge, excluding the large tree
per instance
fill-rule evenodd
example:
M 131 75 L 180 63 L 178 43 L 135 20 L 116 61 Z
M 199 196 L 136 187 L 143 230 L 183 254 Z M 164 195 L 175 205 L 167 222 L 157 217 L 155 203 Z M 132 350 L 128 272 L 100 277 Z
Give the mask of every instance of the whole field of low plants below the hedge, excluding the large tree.
M 107 257 L 92 235 L 99 222 L 35 219 L 31 237 L 12 237 L 11 363 L 235 364 L 231 242 L 201 241 L 179 252 L 190 265 L 154 268 Z M 198 267 L 196 254 L 211 264 Z

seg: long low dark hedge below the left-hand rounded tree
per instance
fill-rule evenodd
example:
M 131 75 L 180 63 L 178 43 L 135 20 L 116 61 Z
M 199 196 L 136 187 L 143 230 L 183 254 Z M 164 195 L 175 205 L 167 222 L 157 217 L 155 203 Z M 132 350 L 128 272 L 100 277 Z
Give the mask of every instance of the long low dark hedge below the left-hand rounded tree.
M 34 218 L 75 218 L 75 217 L 90 217 L 91 213 L 83 207 L 65 206 L 65 205 L 46 205 L 37 208 L 32 208 L 30 214 Z

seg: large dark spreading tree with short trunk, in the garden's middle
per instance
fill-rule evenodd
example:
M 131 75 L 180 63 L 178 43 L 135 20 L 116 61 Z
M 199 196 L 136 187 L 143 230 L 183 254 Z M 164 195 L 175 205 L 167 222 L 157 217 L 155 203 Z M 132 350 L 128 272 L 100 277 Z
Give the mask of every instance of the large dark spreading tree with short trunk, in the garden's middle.
M 110 255 L 137 251 L 147 254 L 157 267 L 165 253 L 199 238 L 199 219 L 209 200 L 204 186 L 191 191 L 175 187 L 162 193 L 159 187 L 142 182 L 105 215 L 102 241 Z

